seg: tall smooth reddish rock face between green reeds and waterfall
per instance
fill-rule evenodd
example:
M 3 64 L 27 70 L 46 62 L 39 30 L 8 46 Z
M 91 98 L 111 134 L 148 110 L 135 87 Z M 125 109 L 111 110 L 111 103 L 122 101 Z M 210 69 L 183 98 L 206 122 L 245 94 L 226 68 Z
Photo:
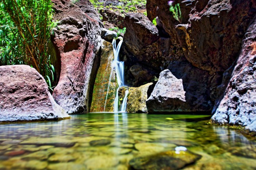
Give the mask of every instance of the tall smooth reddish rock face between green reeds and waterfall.
M 100 48 L 100 25 L 89 0 L 79 0 L 77 4 L 70 0 L 52 2 L 59 20 L 53 42 L 61 58 L 53 97 L 69 114 L 87 112 L 93 62 Z

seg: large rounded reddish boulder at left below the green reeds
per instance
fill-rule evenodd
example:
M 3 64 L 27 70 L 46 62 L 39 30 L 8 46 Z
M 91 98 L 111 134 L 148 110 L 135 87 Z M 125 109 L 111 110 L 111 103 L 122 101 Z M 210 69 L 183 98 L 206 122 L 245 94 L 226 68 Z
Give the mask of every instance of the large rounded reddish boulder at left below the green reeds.
M 0 121 L 61 120 L 70 116 L 30 66 L 0 66 Z

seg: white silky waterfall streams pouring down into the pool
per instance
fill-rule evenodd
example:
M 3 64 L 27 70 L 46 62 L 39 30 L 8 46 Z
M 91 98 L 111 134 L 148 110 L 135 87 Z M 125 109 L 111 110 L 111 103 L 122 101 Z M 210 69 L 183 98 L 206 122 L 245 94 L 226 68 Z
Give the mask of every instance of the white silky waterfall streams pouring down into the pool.
M 111 81 L 111 76 L 112 76 L 112 73 L 113 73 L 113 69 L 115 69 L 115 72 L 117 74 L 117 84 L 118 84 L 118 87 L 121 88 L 123 86 L 125 86 L 124 84 L 124 62 L 123 61 L 119 61 L 119 51 L 121 49 L 121 46 L 122 46 L 122 40 L 120 40 L 120 42 L 116 45 L 116 40 L 113 39 L 113 42 L 112 42 L 112 45 L 113 45 L 113 51 L 114 51 L 114 60 L 112 62 L 112 70 L 111 70 L 111 74 L 109 76 L 109 84 L 108 84 L 108 91 L 107 91 L 107 95 L 106 95 L 106 101 L 108 99 L 108 92 L 109 92 L 109 86 L 110 86 L 110 81 Z M 126 106 L 127 106 L 127 97 L 128 97 L 128 89 L 126 89 L 125 91 L 125 95 L 124 95 L 124 99 L 123 99 L 123 102 L 122 102 L 122 106 L 121 106 L 121 110 L 118 110 L 118 91 L 119 91 L 119 88 L 117 88 L 117 92 L 116 92 L 116 95 L 115 95 L 115 102 L 114 102 L 114 112 L 117 113 L 117 112 L 126 112 Z M 104 106 L 104 112 L 105 112 L 105 108 L 106 108 L 106 101 L 105 101 L 105 106 Z

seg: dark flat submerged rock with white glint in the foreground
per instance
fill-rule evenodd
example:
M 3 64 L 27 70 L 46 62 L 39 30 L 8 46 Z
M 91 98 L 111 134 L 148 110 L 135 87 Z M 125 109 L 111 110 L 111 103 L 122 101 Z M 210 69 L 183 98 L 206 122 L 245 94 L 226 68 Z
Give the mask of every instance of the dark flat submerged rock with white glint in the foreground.
M 129 165 L 135 170 L 179 170 L 202 156 L 189 151 L 168 151 L 155 155 L 135 157 Z

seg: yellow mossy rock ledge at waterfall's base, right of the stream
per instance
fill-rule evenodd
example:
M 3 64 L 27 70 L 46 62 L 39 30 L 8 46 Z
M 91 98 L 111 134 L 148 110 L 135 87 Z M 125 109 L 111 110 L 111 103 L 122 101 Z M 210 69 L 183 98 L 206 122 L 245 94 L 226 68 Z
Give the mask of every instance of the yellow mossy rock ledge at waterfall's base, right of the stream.
M 130 87 L 126 111 L 128 113 L 147 113 L 146 100 L 153 88 L 153 83 L 148 83 L 137 88 Z

